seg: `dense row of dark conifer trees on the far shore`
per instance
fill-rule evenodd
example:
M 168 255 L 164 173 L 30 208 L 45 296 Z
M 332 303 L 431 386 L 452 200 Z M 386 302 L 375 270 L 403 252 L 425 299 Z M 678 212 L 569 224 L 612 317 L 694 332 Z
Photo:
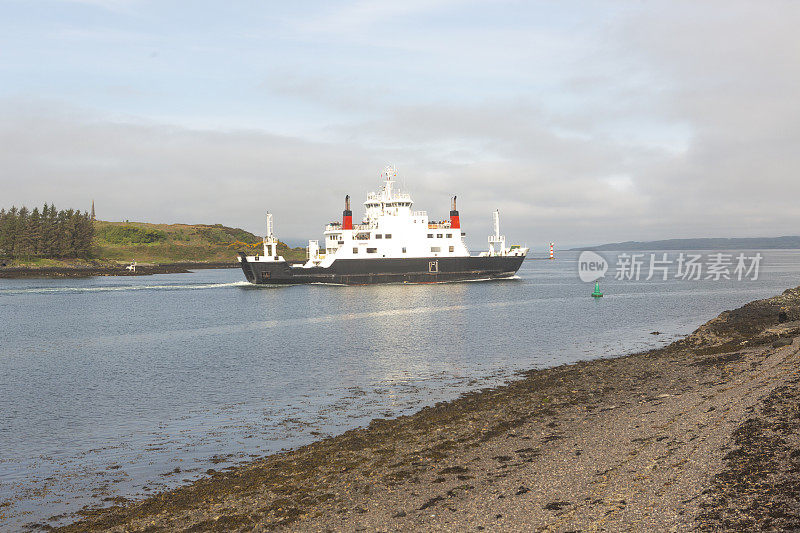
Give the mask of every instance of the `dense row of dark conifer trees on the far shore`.
M 87 212 L 57 210 L 44 204 L 41 210 L 27 207 L 0 209 L 0 256 L 89 257 L 94 223 Z

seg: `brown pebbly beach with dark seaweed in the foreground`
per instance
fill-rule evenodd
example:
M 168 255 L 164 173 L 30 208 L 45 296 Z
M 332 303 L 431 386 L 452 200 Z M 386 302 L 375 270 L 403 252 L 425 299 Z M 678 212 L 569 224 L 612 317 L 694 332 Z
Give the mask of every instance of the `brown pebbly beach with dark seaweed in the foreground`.
M 800 288 L 62 531 L 800 528 Z

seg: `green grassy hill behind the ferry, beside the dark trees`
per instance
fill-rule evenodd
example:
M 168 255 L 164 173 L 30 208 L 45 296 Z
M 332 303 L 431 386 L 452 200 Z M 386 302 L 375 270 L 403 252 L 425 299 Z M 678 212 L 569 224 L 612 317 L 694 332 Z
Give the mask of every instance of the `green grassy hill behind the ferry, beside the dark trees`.
M 236 260 L 236 253 L 258 254 L 262 238 L 222 224 L 149 224 L 95 221 L 95 258 L 142 263 Z M 287 260 L 305 259 L 304 248 L 278 245 Z

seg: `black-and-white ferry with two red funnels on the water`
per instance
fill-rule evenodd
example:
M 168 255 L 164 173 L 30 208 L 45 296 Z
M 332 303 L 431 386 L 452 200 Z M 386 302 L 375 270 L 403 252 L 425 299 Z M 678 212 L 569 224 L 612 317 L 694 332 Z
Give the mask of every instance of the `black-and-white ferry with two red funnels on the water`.
M 264 254 L 238 260 L 247 280 L 255 284 L 331 283 L 442 283 L 511 278 L 519 270 L 528 248 L 510 246 L 500 235 L 500 213 L 495 210 L 494 233 L 489 248 L 470 255 L 452 198 L 449 220 L 432 221 L 425 211 L 412 210 L 408 193 L 396 188 L 397 170 L 388 166 L 383 185 L 364 202 L 361 224 L 353 224 L 350 196 L 345 197 L 342 221 L 325 227 L 324 248 L 308 242 L 305 262 L 286 261 L 278 255 L 272 215 L 267 214 Z

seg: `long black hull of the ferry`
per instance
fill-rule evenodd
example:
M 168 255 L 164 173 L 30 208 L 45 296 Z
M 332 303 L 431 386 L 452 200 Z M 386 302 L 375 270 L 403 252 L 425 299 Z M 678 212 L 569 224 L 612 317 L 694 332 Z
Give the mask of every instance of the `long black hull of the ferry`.
M 239 257 L 247 281 L 265 285 L 368 285 L 502 279 L 514 276 L 525 260 L 524 256 L 337 259 L 329 268 L 293 268 L 285 261 L 250 262 L 244 254 Z

